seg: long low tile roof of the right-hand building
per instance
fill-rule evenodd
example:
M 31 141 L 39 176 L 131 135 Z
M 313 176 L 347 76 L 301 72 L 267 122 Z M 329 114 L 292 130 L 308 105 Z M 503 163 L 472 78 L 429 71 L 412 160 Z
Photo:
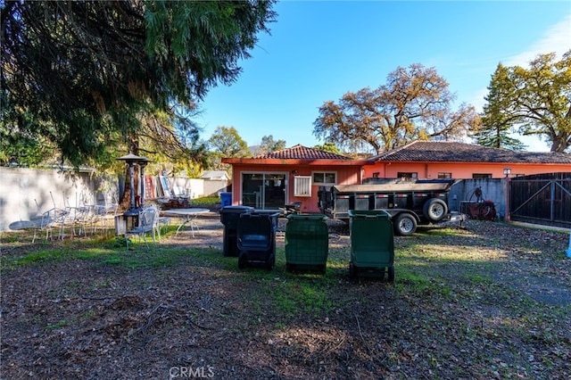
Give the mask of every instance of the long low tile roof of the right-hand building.
M 509 149 L 489 148 L 482 145 L 451 141 L 415 141 L 409 145 L 371 157 L 369 160 L 568 163 L 571 165 L 571 154 L 511 151 Z

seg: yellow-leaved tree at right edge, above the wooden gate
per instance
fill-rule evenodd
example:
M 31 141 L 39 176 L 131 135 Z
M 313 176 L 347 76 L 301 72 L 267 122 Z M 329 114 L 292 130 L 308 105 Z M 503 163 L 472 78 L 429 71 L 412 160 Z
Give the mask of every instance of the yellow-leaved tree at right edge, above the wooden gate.
M 529 69 L 505 67 L 492 75 L 482 118 L 482 130 L 517 128 L 523 135 L 541 136 L 551 152 L 571 146 L 571 50 L 556 61 L 556 54 L 540 54 Z

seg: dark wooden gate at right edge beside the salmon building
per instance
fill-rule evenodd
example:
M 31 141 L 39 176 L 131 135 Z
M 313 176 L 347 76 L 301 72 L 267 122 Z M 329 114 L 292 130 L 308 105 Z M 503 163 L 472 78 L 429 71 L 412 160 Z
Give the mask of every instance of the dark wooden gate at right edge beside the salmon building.
M 511 178 L 509 210 L 511 220 L 571 227 L 571 172 Z

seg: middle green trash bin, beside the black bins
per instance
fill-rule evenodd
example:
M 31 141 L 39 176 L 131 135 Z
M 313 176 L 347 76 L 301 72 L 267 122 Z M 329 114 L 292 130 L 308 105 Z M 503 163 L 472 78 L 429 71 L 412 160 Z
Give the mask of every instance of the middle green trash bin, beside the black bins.
M 329 252 L 327 217 L 322 214 L 292 214 L 285 225 L 285 270 L 318 271 L 325 274 Z

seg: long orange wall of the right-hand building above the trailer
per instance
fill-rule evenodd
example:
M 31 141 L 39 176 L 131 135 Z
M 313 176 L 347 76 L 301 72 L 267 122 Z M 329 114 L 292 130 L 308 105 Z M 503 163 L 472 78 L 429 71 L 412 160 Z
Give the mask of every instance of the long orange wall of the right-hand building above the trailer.
M 451 178 L 473 178 L 474 174 L 492 174 L 492 178 L 505 178 L 504 168 L 511 169 L 511 176 L 569 171 L 566 164 L 532 163 L 477 163 L 477 162 L 377 162 L 364 166 L 364 178 L 398 178 L 399 172 L 418 173 L 418 178 L 438 178 L 438 173 L 451 173 Z

